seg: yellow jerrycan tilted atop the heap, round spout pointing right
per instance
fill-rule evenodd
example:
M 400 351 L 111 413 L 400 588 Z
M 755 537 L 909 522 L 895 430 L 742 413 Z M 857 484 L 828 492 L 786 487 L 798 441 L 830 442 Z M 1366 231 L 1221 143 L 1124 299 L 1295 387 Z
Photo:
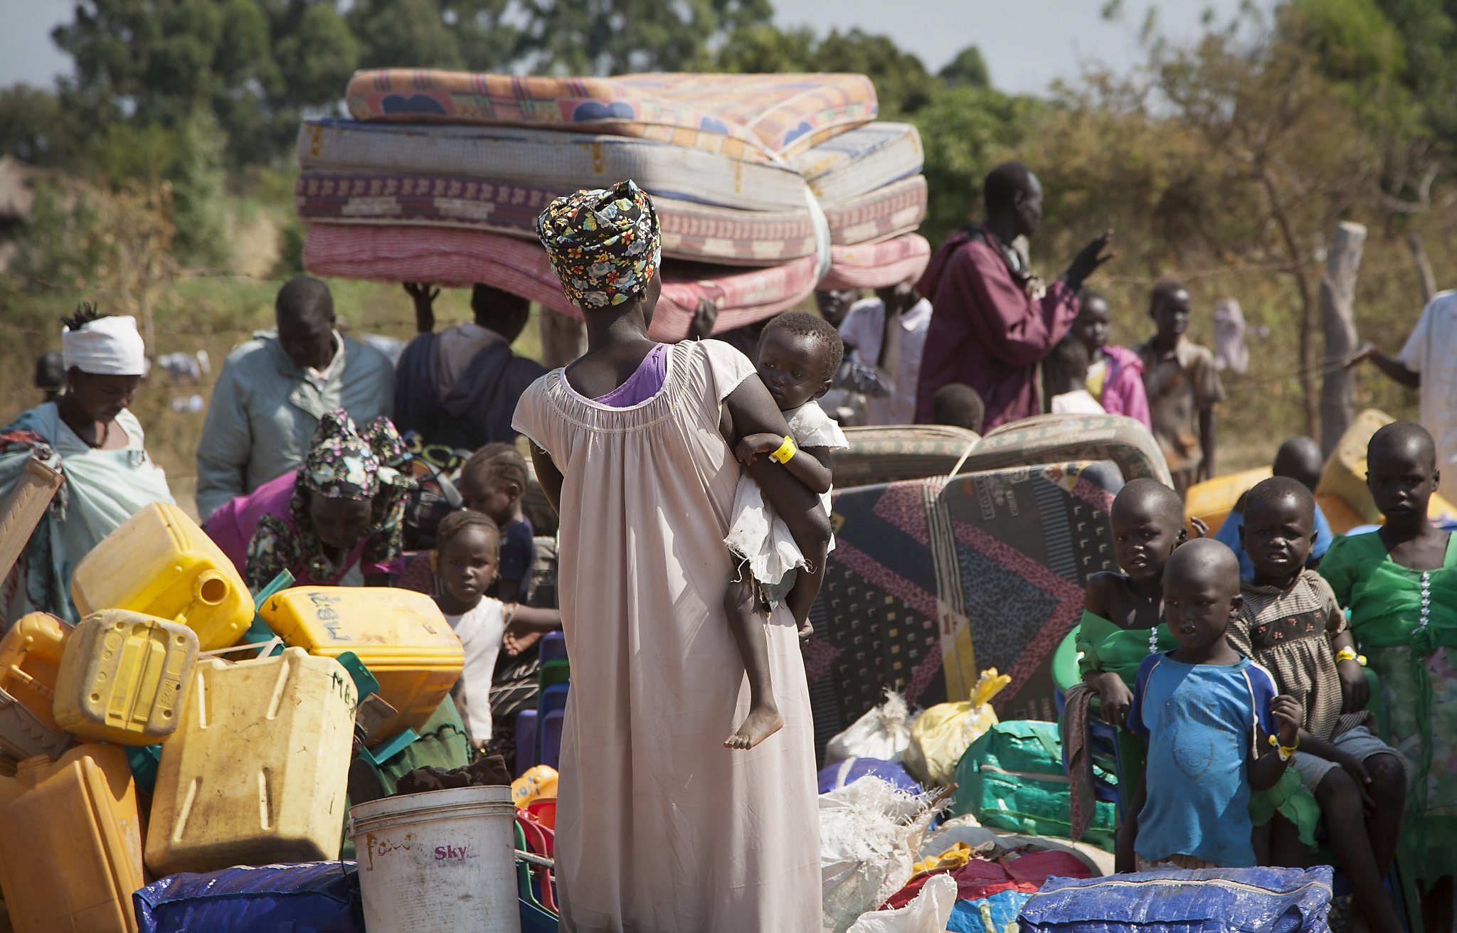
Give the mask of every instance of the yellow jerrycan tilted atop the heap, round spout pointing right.
M 82 616 L 125 608 L 194 632 L 201 651 L 236 645 L 254 600 L 227 555 L 175 505 L 152 502 L 82 557 L 71 575 Z

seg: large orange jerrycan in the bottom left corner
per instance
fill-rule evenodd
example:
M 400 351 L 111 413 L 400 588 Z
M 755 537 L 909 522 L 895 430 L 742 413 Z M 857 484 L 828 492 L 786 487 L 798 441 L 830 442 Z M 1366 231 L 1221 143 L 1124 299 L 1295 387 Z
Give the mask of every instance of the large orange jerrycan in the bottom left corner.
M 0 888 L 16 933 L 136 933 L 146 884 L 127 753 L 79 745 L 0 777 Z

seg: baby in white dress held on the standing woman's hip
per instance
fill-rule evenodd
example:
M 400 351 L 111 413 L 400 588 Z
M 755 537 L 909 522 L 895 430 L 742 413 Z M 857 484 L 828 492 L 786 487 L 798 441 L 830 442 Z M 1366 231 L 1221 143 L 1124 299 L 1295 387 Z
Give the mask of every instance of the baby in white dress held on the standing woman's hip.
M 833 482 L 830 451 L 845 450 L 849 442 L 814 400 L 829 390 L 844 354 L 839 333 L 819 317 L 790 311 L 771 320 L 759 338 L 756 365 L 774 403 L 784 412 L 790 437 L 750 434 L 734 451 L 743 464 L 753 463 L 759 456 L 782 464 L 810 491 L 820 493 L 826 515 Z M 784 601 L 801 635 L 809 632 L 810 606 L 825 578 L 825 556 L 835 543 L 830 540 L 816 555 L 801 553 L 747 472 L 740 476 L 734 492 L 733 518 L 724 543 L 739 565 L 739 576 L 724 594 L 724 607 L 749 675 L 750 694 L 749 716 L 724 741 L 724 747 L 753 748 L 784 725 L 769 684 L 769 648 L 763 630 L 768 613 Z

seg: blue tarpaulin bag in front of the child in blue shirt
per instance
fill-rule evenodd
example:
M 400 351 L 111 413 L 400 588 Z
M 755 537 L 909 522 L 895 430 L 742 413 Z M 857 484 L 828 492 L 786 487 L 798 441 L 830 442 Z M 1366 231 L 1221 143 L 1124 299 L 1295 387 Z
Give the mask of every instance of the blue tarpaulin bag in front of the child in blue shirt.
M 1049 878 L 1021 933 L 1316 933 L 1327 929 L 1330 866 Z

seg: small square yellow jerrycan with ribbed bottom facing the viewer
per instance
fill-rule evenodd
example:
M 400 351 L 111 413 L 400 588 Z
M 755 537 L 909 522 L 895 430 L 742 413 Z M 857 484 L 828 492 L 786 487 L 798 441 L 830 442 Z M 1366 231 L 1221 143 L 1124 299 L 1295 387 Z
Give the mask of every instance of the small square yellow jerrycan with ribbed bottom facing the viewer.
M 178 726 L 197 633 L 112 608 L 82 619 L 55 683 L 55 722 L 82 738 L 154 745 Z

